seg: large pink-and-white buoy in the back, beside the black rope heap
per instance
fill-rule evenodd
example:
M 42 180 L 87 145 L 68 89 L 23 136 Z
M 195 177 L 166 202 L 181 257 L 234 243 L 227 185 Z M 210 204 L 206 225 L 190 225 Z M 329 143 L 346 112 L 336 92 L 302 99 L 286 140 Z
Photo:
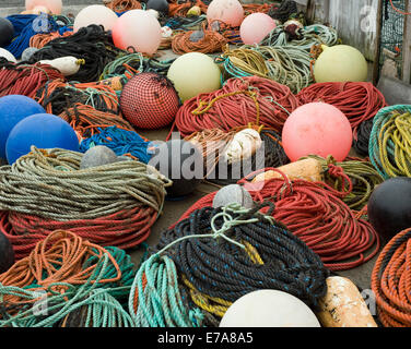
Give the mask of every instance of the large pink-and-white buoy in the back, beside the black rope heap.
M 115 23 L 113 41 L 116 47 L 124 50 L 132 47 L 138 52 L 153 55 L 162 41 L 162 27 L 149 12 L 131 10 Z

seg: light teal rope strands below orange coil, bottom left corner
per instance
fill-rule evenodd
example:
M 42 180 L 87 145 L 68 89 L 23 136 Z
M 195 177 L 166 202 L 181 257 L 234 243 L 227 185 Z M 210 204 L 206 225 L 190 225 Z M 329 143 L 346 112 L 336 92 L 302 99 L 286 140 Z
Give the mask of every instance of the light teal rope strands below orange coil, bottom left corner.
M 132 318 L 114 296 L 129 292 L 130 286 L 102 288 L 103 284 L 99 284 L 109 270 L 108 263 L 109 257 L 105 253 L 98 261 L 93 275 L 80 287 L 66 282 L 51 284 L 47 289 L 51 296 L 47 297 L 45 314 L 35 313 L 32 306 L 28 306 L 28 309 L 22 306 L 17 314 L 7 316 L 4 296 L 17 296 L 32 301 L 38 301 L 39 296 L 38 291 L 0 284 L 0 327 L 66 326 L 68 318 L 79 315 L 81 309 L 83 309 L 84 314 L 80 318 L 79 327 L 131 327 L 133 325 Z M 57 286 L 63 286 L 67 290 L 63 293 L 54 291 Z

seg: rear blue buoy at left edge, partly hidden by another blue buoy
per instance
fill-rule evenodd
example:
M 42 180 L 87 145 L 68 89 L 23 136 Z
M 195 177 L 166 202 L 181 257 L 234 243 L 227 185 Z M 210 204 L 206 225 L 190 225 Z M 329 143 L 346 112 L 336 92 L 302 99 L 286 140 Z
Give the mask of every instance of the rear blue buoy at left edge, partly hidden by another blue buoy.
M 5 159 L 5 141 L 10 131 L 23 119 L 46 110 L 34 99 L 21 95 L 0 98 L 0 158 Z

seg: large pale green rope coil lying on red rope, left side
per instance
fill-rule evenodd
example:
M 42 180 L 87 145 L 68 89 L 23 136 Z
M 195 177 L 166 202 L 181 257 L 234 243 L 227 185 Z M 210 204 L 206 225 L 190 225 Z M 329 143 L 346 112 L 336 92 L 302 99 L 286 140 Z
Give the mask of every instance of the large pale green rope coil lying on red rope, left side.
M 80 169 L 82 157 L 33 146 L 13 166 L 0 168 L 0 230 L 16 258 L 59 229 L 120 249 L 149 237 L 171 181 L 139 161 Z

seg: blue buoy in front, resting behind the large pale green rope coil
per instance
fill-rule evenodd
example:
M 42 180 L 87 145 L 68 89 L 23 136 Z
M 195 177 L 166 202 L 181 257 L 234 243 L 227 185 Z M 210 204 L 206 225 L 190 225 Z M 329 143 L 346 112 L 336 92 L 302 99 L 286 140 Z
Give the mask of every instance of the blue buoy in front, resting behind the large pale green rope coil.
M 20 121 L 5 143 L 10 165 L 26 155 L 34 145 L 40 149 L 62 148 L 79 152 L 79 139 L 70 124 L 50 113 L 37 113 Z

